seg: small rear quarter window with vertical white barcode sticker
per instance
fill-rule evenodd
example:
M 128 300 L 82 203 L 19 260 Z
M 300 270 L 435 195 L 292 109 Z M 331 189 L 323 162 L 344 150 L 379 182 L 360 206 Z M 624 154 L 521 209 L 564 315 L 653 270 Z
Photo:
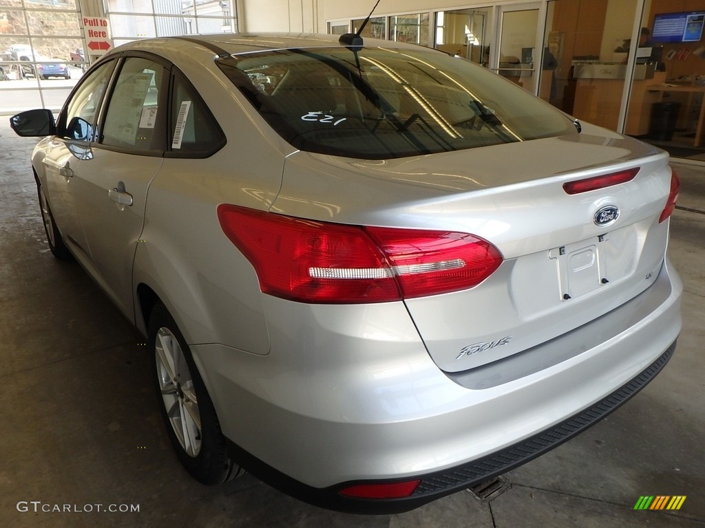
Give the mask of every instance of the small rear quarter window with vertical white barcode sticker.
M 173 75 L 168 156 L 204 158 L 221 149 L 225 136 L 190 82 Z

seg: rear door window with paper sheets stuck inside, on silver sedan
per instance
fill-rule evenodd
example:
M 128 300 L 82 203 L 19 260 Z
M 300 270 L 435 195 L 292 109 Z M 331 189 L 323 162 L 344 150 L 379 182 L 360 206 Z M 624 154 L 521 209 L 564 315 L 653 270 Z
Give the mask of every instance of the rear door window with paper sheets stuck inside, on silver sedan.
M 101 143 L 123 149 L 164 151 L 166 134 L 160 108 L 166 70 L 147 58 L 125 59 L 110 96 Z

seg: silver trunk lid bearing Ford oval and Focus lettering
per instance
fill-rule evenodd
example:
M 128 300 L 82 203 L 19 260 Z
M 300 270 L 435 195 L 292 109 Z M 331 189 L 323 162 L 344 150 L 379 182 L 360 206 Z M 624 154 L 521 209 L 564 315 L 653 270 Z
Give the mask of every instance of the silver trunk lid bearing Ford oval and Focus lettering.
M 668 239 L 668 222 L 658 222 L 670 189 L 668 156 L 586 128 L 391 161 L 301 153 L 287 161 L 273 210 L 469 232 L 494 244 L 504 261 L 477 287 L 405 300 L 436 364 L 460 372 L 570 332 L 655 281 Z M 630 182 L 563 190 L 565 182 L 632 168 L 638 172 Z M 304 194 L 306 201 L 297 198 Z M 599 225 L 599 211 L 618 216 Z

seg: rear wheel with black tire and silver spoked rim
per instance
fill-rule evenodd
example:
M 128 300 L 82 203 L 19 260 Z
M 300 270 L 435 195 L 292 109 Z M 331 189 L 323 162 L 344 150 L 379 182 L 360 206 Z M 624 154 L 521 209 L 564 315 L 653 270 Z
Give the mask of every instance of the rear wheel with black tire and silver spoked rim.
M 191 352 L 163 304 L 149 316 L 149 346 L 161 417 L 180 463 L 202 484 L 222 484 L 240 474 Z

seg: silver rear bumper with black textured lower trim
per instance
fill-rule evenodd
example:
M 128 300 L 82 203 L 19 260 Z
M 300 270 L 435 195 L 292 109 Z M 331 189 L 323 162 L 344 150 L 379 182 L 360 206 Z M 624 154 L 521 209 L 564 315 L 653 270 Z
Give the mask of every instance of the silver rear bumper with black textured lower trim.
M 484 386 L 439 370 L 401 303 L 302 307 L 265 296 L 276 322 L 268 355 L 191 348 L 247 470 L 325 508 L 400 512 L 521 465 L 624 403 L 672 355 L 681 291 L 666 262 L 621 329 L 606 332 L 599 318 L 601 339 Z M 407 498 L 338 493 L 411 479 L 422 482 Z

